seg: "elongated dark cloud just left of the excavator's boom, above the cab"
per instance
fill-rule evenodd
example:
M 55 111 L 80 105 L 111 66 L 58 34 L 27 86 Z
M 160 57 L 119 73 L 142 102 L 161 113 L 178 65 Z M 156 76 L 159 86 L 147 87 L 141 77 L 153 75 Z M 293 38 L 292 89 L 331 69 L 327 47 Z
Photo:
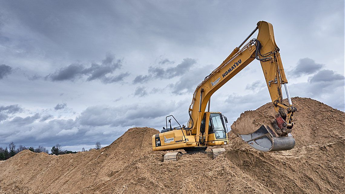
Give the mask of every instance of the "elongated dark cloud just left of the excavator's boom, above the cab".
M 186 74 L 189 68 L 192 67 L 194 64 L 196 64 L 195 59 L 184 58 L 183 61 L 176 67 L 162 68 L 160 66 L 150 66 L 149 72 L 155 78 L 170 79 L 179 75 Z

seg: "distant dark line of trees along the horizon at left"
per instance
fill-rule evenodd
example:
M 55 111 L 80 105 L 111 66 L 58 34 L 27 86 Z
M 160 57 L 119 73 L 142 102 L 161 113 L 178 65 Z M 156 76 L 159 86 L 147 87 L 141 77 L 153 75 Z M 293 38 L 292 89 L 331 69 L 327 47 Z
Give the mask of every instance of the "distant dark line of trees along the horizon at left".
M 51 155 L 62 155 L 62 154 L 75 154 L 77 152 L 73 152 L 73 151 L 69 151 L 69 150 L 63 150 L 62 146 L 60 144 L 56 144 L 55 146 L 53 146 L 51 148 L 51 152 L 49 153 L 48 149 L 46 147 L 43 146 L 38 146 L 38 147 L 25 147 L 23 145 L 19 145 L 17 148 L 17 146 L 11 142 L 8 145 L 8 148 L 6 147 L 5 149 L 0 147 L 0 160 L 7 160 L 10 157 L 13 157 L 14 155 L 18 154 L 19 152 L 23 151 L 23 150 L 30 150 L 31 152 L 36 152 L 36 153 L 41 153 L 41 152 L 45 152 L 47 154 L 51 154 Z M 95 147 L 94 148 L 90 148 L 90 150 L 92 149 L 101 149 L 102 145 L 100 142 L 96 142 Z M 85 148 L 81 149 L 81 152 L 86 152 Z

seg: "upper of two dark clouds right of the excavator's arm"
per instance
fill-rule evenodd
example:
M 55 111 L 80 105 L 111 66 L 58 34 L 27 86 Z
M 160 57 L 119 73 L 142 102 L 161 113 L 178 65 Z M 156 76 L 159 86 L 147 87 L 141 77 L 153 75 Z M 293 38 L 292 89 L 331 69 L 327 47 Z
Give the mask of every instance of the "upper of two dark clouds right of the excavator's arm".
M 320 70 L 323 66 L 323 64 L 318 64 L 313 59 L 303 58 L 299 59 L 296 67 L 288 72 L 291 77 L 310 75 Z

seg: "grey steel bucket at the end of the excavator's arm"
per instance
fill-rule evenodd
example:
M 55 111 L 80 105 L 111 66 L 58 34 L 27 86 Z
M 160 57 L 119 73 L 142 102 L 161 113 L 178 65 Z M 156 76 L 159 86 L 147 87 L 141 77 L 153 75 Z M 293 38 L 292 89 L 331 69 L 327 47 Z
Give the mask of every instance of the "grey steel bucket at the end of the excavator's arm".
M 295 138 L 291 133 L 287 136 L 278 136 L 266 125 L 262 125 L 254 133 L 239 136 L 254 149 L 262 152 L 289 150 L 295 147 Z

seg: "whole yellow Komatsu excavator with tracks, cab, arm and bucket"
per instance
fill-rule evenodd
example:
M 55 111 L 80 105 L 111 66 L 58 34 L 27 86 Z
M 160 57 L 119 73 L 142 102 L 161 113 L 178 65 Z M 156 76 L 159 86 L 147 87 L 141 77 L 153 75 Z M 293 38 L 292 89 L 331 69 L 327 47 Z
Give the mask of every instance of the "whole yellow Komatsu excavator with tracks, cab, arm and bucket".
M 257 38 L 248 39 L 258 30 Z M 246 43 L 246 44 L 245 44 Z M 153 151 L 176 151 L 184 149 L 187 154 L 205 152 L 208 146 L 227 145 L 227 118 L 219 112 L 210 112 L 210 98 L 215 91 L 233 78 L 254 59 L 259 60 L 272 99 L 275 119 L 261 125 L 255 132 L 239 134 L 251 147 L 262 152 L 289 150 L 294 148 L 295 139 L 291 134 L 293 114 L 297 110 L 292 105 L 279 48 L 274 40 L 273 26 L 259 21 L 249 36 L 230 55 L 205 77 L 195 89 L 189 106 L 187 126 L 180 125 L 174 116 L 166 117 L 166 128 L 152 136 Z M 288 105 L 283 102 L 282 85 L 285 87 Z M 208 105 L 208 110 L 206 106 Z M 170 118 L 167 122 L 167 119 Z M 177 127 L 171 127 L 175 119 Z M 168 123 L 170 127 L 168 128 Z M 213 157 L 224 152 L 224 148 L 212 149 Z M 177 161 L 181 152 L 167 152 L 164 161 Z

